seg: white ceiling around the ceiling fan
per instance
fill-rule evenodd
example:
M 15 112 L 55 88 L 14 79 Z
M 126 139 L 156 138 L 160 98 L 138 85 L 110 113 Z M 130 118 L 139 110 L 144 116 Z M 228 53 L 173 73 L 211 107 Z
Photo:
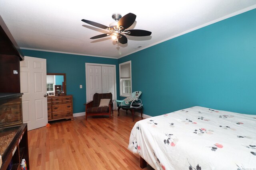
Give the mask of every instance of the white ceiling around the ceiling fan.
M 256 8 L 256 0 L 0 0 L 0 15 L 21 49 L 120 58 L 216 21 Z M 109 26 L 113 13 L 133 13 L 129 29 L 152 32 L 147 37 L 127 35 L 116 44 L 108 33 L 82 19 Z M 141 48 L 138 48 L 142 46 Z

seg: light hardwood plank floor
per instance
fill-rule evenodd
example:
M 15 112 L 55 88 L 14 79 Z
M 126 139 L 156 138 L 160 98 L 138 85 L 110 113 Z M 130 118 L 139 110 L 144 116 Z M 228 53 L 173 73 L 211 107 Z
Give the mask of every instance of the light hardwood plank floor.
M 140 157 L 127 149 L 139 120 L 114 111 L 111 119 L 80 116 L 28 131 L 30 170 L 140 170 Z

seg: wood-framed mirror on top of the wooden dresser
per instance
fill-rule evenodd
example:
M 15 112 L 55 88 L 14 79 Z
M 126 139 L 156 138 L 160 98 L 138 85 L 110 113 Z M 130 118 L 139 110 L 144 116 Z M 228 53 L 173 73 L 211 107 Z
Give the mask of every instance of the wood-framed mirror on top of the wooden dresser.
M 47 73 L 46 75 L 47 96 L 66 95 L 66 74 Z

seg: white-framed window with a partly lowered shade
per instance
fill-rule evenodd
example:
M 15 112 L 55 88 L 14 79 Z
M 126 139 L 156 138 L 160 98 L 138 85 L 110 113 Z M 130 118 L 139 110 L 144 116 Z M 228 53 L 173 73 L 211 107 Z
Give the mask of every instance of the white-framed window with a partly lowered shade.
M 132 94 L 132 63 L 127 61 L 119 64 L 120 76 L 120 96 L 130 96 Z

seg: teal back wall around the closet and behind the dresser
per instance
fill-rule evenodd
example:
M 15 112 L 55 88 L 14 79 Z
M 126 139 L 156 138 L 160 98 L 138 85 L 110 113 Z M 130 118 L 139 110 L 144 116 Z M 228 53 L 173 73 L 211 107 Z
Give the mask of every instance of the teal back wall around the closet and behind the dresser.
M 117 82 L 119 82 L 119 67 L 117 59 L 32 50 L 22 50 L 22 53 L 25 56 L 46 59 L 46 69 L 48 73 L 66 73 L 66 90 L 68 95 L 73 95 L 74 113 L 85 111 L 85 63 L 115 64 Z M 80 84 L 83 86 L 82 89 L 79 87 Z M 119 89 L 119 84 L 117 85 L 117 89 Z M 119 90 L 117 90 L 117 96 L 119 96 Z

